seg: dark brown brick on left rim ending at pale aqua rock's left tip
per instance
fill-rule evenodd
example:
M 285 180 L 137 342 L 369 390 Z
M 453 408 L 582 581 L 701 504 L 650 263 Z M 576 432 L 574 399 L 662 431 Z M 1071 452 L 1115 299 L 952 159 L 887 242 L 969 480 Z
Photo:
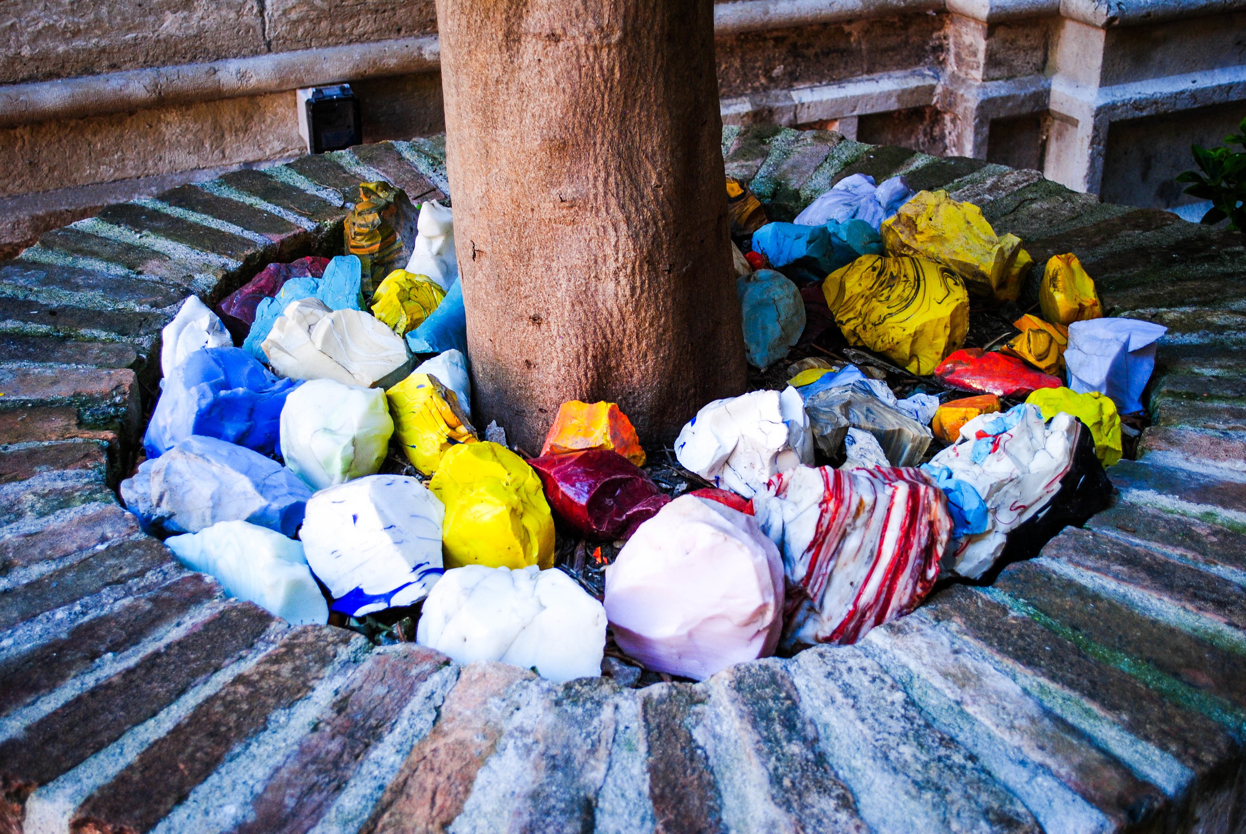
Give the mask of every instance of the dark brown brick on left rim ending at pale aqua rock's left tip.
M 142 576 L 172 559 L 168 548 L 156 539 L 117 541 L 32 583 L 0 591 L 0 631 Z

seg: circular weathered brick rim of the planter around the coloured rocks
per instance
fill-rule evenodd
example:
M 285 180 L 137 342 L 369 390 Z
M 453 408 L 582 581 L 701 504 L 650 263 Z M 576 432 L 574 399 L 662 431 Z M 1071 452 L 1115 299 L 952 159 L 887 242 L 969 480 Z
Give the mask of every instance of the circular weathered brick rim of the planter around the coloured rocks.
M 0 264 L 0 833 L 1246 830 L 1246 240 L 832 133 L 723 148 L 778 219 L 903 172 L 1165 324 L 1115 507 L 856 646 L 700 685 L 290 627 L 117 505 L 159 329 L 189 293 L 336 251 L 361 179 L 444 197 L 441 141 L 110 207 Z

